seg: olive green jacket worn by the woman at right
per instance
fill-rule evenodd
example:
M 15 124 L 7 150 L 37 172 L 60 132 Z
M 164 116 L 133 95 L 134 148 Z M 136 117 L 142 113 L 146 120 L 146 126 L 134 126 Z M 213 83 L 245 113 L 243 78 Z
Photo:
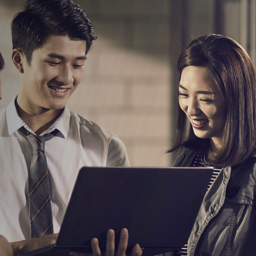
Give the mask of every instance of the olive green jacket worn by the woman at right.
M 183 148 L 174 167 L 192 166 Z M 188 256 L 256 255 L 256 157 L 222 168 L 207 191 L 188 240 Z

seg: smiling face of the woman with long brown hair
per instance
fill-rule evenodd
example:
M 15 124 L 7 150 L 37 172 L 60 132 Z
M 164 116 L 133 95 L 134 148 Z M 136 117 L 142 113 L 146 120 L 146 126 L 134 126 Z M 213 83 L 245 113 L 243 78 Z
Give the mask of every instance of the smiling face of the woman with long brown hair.
M 197 137 L 219 140 L 226 123 L 227 107 L 207 68 L 187 66 L 182 70 L 179 104 Z

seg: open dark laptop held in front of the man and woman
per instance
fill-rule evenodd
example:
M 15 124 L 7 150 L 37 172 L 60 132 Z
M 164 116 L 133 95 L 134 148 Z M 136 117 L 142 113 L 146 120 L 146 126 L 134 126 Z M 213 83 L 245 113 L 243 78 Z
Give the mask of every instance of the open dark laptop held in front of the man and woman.
M 108 229 L 116 248 L 122 228 L 128 250 L 139 243 L 143 255 L 170 252 L 186 244 L 212 168 L 83 167 L 79 171 L 56 244 L 22 256 L 91 253 L 97 237 L 106 248 Z

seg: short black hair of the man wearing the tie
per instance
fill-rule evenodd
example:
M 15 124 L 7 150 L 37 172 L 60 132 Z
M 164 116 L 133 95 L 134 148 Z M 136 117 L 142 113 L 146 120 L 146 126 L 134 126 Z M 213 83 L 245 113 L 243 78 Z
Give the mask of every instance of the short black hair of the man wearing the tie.
M 72 0 L 28 0 L 23 11 L 14 16 L 11 30 L 13 49 L 20 49 L 28 64 L 34 50 L 50 35 L 85 40 L 86 53 L 97 38 L 86 13 Z

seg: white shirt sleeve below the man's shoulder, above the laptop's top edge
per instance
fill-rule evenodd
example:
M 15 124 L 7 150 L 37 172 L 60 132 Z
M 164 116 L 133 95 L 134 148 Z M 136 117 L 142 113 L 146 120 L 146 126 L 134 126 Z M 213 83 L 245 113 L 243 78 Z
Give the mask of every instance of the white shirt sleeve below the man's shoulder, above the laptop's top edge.
M 106 166 L 130 166 L 124 143 L 115 135 L 109 142 Z

